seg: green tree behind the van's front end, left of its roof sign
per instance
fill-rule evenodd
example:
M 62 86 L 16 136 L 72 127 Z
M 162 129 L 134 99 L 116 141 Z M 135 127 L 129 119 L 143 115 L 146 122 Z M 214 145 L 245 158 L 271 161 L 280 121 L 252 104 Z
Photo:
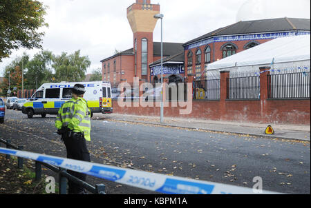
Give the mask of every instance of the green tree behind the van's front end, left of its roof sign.
M 28 61 L 25 74 L 26 89 L 37 89 L 41 84 L 51 82 L 53 54 L 48 50 L 42 50 Z

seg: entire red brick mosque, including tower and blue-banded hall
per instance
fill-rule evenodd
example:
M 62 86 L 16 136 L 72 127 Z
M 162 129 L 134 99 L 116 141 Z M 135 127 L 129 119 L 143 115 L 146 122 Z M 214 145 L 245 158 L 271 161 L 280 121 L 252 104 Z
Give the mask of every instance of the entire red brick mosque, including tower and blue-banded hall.
M 136 0 L 126 10 L 133 31 L 133 48 L 102 62 L 102 79 L 117 86 L 133 77 L 151 83 L 160 80 L 160 43 L 153 42 L 160 5 Z M 239 21 L 187 43 L 163 43 L 163 73 L 168 82 L 192 82 L 207 78 L 207 64 L 277 37 L 310 34 L 310 19 L 263 19 Z M 220 76 L 220 74 L 219 74 Z

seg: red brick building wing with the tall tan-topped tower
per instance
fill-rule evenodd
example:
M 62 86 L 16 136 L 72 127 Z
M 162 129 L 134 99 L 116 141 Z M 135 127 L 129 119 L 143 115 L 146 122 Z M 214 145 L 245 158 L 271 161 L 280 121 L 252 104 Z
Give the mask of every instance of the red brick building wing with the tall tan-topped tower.
M 133 77 L 140 81 L 150 81 L 149 64 L 161 58 L 160 43 L 153 42 L 153 30 L 160 13 L 160 5 L 151 4 L 150 0 L 137 0 L 127 8 L 127 19 L 133 31 L 133 48 L 119 52 L 102 62 L 102 79 L 117 86 L 120 82 L 133 82 Z M 182 43 L 164 43 L 164 57 L 183 50 Z

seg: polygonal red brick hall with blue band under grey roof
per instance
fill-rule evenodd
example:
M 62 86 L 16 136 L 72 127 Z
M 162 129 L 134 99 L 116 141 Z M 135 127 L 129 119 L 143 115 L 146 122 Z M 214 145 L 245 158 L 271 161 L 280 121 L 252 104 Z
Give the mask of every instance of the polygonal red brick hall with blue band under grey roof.
M 186 76 L 206 79 L 209 63 L 218 61 L 278 37 L 310 34 L 310 19 L 262 19 L 239 21 L 188 41 L 185 48 Z

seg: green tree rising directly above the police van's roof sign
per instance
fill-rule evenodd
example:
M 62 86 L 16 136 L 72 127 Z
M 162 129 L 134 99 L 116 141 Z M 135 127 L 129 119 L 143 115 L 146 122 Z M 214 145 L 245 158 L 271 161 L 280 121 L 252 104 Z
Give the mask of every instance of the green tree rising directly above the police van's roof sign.
M 80 50 L 67 55 L 62 52 L 61 55 L 53 59 L 55 69 L 55 81 L 83 81 L 85 79 L 86 69 L 91 65 L 88 56 L 80 56 Z

